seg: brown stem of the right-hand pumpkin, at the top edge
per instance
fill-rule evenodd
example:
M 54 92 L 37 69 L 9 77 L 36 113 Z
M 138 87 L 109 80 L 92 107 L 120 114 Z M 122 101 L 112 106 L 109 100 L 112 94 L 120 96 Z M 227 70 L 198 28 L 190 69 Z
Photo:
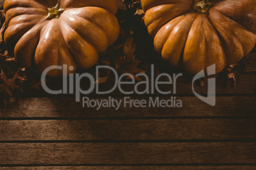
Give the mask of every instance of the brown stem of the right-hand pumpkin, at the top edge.
M 194 0 L 192 9 L 196 10 L 199 13 L 208 14 L 212 6 L 213 6 L 213 3 L 211 3 L 210 0 Z

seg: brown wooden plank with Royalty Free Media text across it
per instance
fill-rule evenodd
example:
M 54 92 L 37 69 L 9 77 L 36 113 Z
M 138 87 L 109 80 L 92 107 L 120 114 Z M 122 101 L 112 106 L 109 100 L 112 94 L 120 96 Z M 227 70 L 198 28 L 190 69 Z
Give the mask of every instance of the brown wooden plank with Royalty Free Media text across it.
M 124 100 L 123 97 L 114 97 Z M 0 119 L 20 117 L 222 117 L 256 115 L 256 96 L 218 96 L 217 105 L 210 107 L 196 97 L 178 97 L 183 108 L 124 107 L 83 108 L 75 98 L 10 98 L 0 105 Z M 95 98 L 94 98 L 95 99 Z M 98 98 L 99 99 L 99 98 Z M 106 99 L 106 98 L 101 98 Z M 149 100 L 149 97 L 132 99 Z M 169 97 L 160 97 L 167 100 Z

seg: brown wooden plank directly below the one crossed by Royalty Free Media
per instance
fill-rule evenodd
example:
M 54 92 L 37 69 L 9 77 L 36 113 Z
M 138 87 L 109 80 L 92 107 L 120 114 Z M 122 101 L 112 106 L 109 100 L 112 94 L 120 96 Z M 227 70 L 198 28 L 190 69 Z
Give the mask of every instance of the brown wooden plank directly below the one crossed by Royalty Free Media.
M 0 121 L 0 141 L 256 140 L 256 119 Z

